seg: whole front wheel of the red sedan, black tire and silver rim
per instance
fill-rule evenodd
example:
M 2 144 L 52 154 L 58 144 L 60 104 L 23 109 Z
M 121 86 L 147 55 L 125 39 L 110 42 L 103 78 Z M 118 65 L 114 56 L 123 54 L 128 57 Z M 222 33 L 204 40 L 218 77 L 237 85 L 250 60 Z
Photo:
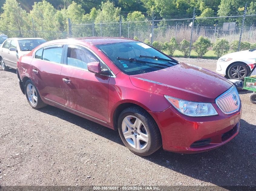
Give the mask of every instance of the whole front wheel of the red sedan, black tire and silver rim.
M 155 120 L 140 107 L 131 106 L 120 113 L 118 132 L 125 146 L 140 156 L 148 156 L 162 145 Z

